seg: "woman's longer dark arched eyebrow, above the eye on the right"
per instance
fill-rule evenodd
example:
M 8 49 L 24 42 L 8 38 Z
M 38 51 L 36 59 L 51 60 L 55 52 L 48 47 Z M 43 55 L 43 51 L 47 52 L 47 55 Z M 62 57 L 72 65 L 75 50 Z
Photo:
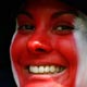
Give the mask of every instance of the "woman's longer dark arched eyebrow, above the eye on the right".
M 70 11 L 61 11 L 61 12 L 55 12 L 51 18 L 57 18 L 61 15 L 64 15 L 64 14 L 72 14 L 72 15 L 75 15 L 75 16 L 78 16 L 78 13 L 77 11 L 73 11 L 73 10 L 70 10 Z

